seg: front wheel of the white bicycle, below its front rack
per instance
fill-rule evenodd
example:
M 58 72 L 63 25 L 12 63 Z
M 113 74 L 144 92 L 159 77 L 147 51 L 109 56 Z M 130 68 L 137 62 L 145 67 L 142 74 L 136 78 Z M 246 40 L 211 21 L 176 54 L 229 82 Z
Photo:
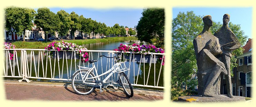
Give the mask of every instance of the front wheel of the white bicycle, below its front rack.
M 132 89 L 132 86 L 131 86 L 131 83 L 130 83 L 128 77 L 126 76 L 126 74 L 124 72 L 121 72 L 119 74 L 120 74 L 119 79 L 121 81 L 122 87 L 124 88 L 126 95 L 129 97 L 132 97 L 133 89 Z

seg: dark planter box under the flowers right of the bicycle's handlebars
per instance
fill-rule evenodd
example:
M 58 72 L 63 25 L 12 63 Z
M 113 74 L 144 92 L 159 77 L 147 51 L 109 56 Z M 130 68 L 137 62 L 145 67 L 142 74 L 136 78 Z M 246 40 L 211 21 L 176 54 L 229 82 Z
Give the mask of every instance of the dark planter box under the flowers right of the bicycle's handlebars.
M 130 60 L 130 55 L 125 55 L 125 58 Z M 141 58 L 141 60 L 140 60 Z M 150 54 L 146 54 L 145 55 L 145 58 L 144 58 L 144 55 L 142 54 L 131 54 L 131 62 L 141 62 L 141 63 L 144 63 L 144 59 L 145 59 L 145 63 L 150 63 L 150 58 L 151 58 L 151 55 Z M 158 56 L 156 55 L 156 58 L 152 57 L 152 63 L 156 63 L 157 62 L 157 58 Z

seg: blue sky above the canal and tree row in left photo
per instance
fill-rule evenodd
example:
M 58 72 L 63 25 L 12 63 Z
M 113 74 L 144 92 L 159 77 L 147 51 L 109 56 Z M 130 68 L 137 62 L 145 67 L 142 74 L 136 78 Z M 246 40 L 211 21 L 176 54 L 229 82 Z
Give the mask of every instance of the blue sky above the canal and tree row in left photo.
M 118 23 L 120 26 L 128 26 L 134 28 L 138 24 L 141 12 L 143 9 L 127 9 L 127 8 L 108 8 L 108 9 L 94 9 L 94 8 L 49 8 L 50 11 L 57 13 L 60 10 L 65 10 L 69 14 L 74 11 L 78 15 L 83 15 L 85 18 L 91 18 L 97 22 L 105 23 L 107 26 L 114 26 Z M 37 11 L 37 9 L 35 9 Z

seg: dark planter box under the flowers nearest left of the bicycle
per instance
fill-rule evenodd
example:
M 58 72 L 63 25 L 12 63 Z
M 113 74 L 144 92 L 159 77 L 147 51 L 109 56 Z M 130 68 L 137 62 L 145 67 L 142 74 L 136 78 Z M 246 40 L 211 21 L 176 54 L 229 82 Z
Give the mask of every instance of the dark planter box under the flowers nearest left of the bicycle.
M 58 51 L 52 51 L 52 54 L 53 54 L 53 58 L 54 58 L 54 56 L 55 56 L 55 52 L 58 52 Z M 76 52 L 76 51 L 75 51 Z M 66 51 L 65 53 L 64 53 L 64 56 L 63 56 L 63 53 L 64 53 L 64 51 L 59 51 L 59 58 L 60 59 L 66 59 L 66 53 L 67 53 L 67 59 L 71 59 L 71 57 L 72 57 L 72 59 L 74 59 L 74 52 L 72 53 L 72 51 Z M 73 54 L 73 56 L 72 56 L 72 54 Z M 58 54 L 56 53 L 56 56 L 57 56 Z M 64 57 L 64 58 L 63 58 Z M 57 58 L 57 57 L 56 57 Z M 78 60 L 78 59 L 80 59 L 80 57 L 79 57 L 79 55 L 76 53 L 76 59 Z

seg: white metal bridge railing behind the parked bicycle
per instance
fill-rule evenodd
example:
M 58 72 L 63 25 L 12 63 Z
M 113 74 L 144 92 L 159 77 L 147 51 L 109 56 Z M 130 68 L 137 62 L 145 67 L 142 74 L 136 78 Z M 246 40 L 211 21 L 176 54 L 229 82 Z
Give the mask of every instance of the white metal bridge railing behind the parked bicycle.
M 10 59 L 10 51 L 13 51 L 14 53 L 13 60 Z M 55 54 L 53 54 L 53 58 L 47 58 L 50 51 L 55 52 Z M 109 57 L 112 57 L 115 55 L 116 52 L 118 52 L 106 50 L 83 50 L 82 53 L 85 51 L 89 54 L 89 60 L 98 60 L 97 62 L 95 62 L 98 74 L 104 73 L 115 64 L 112 58 L 99 56 L 107 55 Z M 3 77 L 22 78 L 19 80 L 19 82 L 21 82 L 22 80 L 30 82 L 31 80 L 37 79 L 47 79 L 53 81 L 71 81 L 71 76 L 73 75 L 73 73 L 75 73 L 75 71 L 79 69 L 77 65 L 92 67 L 92 65 L 88 62 L 82 63 L 80 59 L 77 60 L 76 55 L 78 54 L 76 54 L 76 51 L 63 51 L 63 59 L 60 59 L 60 54 L 56 50 L 46 51 L 45 49 L 5 49 L 3 52 L 5 56 L 5 61 L 3 61 Z M 46 55 L 44 55 L 44 52 L 46 53 Z M 71 52 L 71 60 L 68 60 L 67 52 Z M 126 74 L 129 77 L 131 83 L 133 83 L 132 85 L 142 87 L 164 88 L 163 73 L 161 74 L 161 71 L 163 71 L 162 63 L 164 59 L 163 57 L 165 56 L 164 53 L 149 53 L 149 65 L 146 65 L 147 63 L 145 63 L 144 54 L 139 54 L 140 60 L 144 60 L 144 62 L 140 61 L 138 63 L 132 62 L 136 60 L 135 53 L 128 52 L 127 54 L 130 55 L 130 57 L 125 64 L 126 66 L 129 66 L 130 71 L 126 72 Z M 156 56 L 162 58 L 160 60 L 161 64 L 158 63 L 158 67 L 156 67 L 156 63 L 154 63 L 154 68 L 152 68 L 152 62 L 156 62 L 152 60 L 154 60 Z M 139 66 L 137 67 L 137 65 Z M 143 66 L 143 68 L 141 68 L 141 66 Z M 152 71 L 153 69 L 154 71 Z M 150 71 L 153 73 L 150 73 Z M 102 76 L 102 78 L 104 77 Z M 117 76 L 116 74 L 114 74 L 109 79 L 108 84 L 117 84 L 116 81 Z M 159 86 L 159 81 L 161 81 L 161 86 Z

